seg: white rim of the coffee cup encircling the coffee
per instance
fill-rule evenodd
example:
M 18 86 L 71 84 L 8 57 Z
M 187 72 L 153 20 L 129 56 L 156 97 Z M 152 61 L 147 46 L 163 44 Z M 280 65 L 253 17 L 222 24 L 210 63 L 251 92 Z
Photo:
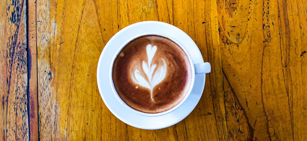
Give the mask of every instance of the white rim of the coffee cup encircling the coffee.
M 144 21 L 146 22 L 146 21 Z M 154 22 L 155 24 L 168 24 L 168 23 L 164 23 L 164 22 L 159 22 L 159 21 L 150 21 L 150 22 Z M 137 23 L 134 23 L 134 24 L 130 24 L 126 27 L 124 27 L 124 29 L 120 30 L 118 33 L 121 33 L 122 31 L 125 31 L 127 30 L 128 28 L 130 28 L 131 26 L 136 26 L 138 25 L 139 23 L 141 22 L 137 22 Z M 171 24 L 170 24 L 171 25 Z M 171 25 L 172 28 L 177 28 L 179 29 L 178 27 L 174 26 L 174 25 Z M 112 77 L 112 72 L 113 72 L 113 65 L 114 65 L 114 61 L 116 59 L 116 57 L 118 56 L 119 52 L 131 41 L 133 41 L 134 39 L 136 38 L 139 38 L 139 37 L 142 37 L 142 36 L 147 36 L 147 35 L 157 35 L 157 36 L 162 36 L 162 37 L 165 37 L 165 38 L 168 38 L 170 39 L 171 41 L 173 41 L 174 43 L 178 44 L 183 50 L 184 52 L 187 54 L 188 56 L 188 60 L 190 62 L 190 67 L 191 67 L 191 70 L 192 70 L 192 79 L 191 79 L 191 82 L 190 82 L 190 87 L 189 87 L 189 90 L 187 91 L 187 94 L 185 95 L 185 97 L 174 107 L 166 110 L 166 111 L 163 111 L 163 112 L 158 112 L 158 113 L 146 113 L 146 112 L 142 112 L 142 111 L 139 111 L 139 110 L 136 110 L 132 107 L 130 107 L 129 105 L 127 105 L 121 98 L 120 96 L 118 95 L 115 87 L 114 87 L 114 82 L 113 82 L 113 77 Z M 114 35 L 114 37 L 117 36 Z M 129 38 L 128 40 L 126 40 L 116 51 L 116 53 L 113 55 L 113 58 L 112 58 L 112 62 L 111 62 L 111 67 L 109 69 L 109 80 L 110 80 L 110 83 L 111 83 L 111 89 L 113 91 L 113 94 L 115 95 L 116 99 L 124 106 L 126 107 L 127 109 L 135 112 L 136 114 L 138 115 L 142 115 L 142 116 L 147 116 L 147 117 L 156 117 L 156 116 L 162 116 L 162 115 L 165 115 L 165 114 L 168 114 L 169 112 L 177 109 L 179 106 L 181 106 L 185 101 L 186 99 L 189 97 L 189 95 L 191 94 L 191 91 L 193 89 L 193 86 L 194 86 L 194 81 L 195 81 L 195 69 L 194 69 L 194 64 L 192 62 L 192 59 L 190 57 L 190 54 L 189 52 L 187 51 L 187 48 L 185 46 L 183 46 L 178 40 L 176 40 L 175 38 L 171 37 L 171 36 L 168 36 L 166 34 L 163 34 L 163 33 L 149 33 L 149 32 L 144 32 L 144 33 L 141 33 L 141 34 L 137 34 L 131 38 Z

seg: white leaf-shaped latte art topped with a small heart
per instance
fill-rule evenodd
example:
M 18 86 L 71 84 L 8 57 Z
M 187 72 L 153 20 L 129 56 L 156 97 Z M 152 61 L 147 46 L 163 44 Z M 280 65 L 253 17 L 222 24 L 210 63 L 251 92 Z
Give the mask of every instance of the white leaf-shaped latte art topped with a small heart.
M 142 63 L 142 71 L 146 74 L 146 77 L 144 77 L 138 69 L 135 69 L 134 73 L 133 71 L 131 71 L 132 80 L 136 84 L 139 84 L 140 86 L 150 90 L 151 101 L 155 101 L 152 97 L 152 90 L 157 86 L 158 83 L 160 83 L 165 78 L 167 69 L 165 60 L 163 58 L 161 58 L 161 60 L 163 61 L 163 66 L 157 67 L 157 64 L 151 64 L 153 57 L 155 57 L 156 51 L 157 46 L 151 47 L 151 44 L 148 44 L 146 46 L 148 64 L 145 61 L 143 61 Z

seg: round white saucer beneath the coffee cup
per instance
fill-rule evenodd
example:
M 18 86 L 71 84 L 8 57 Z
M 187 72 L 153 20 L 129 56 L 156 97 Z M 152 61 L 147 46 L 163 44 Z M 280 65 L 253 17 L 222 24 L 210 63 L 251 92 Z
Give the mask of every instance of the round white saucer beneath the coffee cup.
M 204 62 L 202 54 L 194 41 L 177 27 L 158 21 L 134 23 L 116 33 L 104 46 L 97 66 L 98 89 L 107 108 L 124 123 L 141 129 L 166 128 L 183 120 L 198 104 L 204 90 L 206 74 L 195 75 L 195 82 L 189 97 L 182 105 L 168 114 L 157 117 L 147 117 L 127 110 L 126 107 L 117 100 L 112 90 L 112 80 L 110 77 L 111 64 L 120 46 L 127 40 L 144 33 L 168 35 L 179 41 L 185 47 L 190 54 L 193 64 Z

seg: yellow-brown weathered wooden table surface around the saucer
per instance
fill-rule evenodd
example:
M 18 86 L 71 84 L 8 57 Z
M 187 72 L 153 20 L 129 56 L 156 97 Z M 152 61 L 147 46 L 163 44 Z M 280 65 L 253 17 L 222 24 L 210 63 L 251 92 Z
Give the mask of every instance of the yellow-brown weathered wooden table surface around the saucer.
M 306 17 L 303 0 L 1 1 L 0 140 L 305 140 Z M 196 108 L 160 130 L 118 120 L 96 82 L 107 41 L 145 20 L 212 65 Z

